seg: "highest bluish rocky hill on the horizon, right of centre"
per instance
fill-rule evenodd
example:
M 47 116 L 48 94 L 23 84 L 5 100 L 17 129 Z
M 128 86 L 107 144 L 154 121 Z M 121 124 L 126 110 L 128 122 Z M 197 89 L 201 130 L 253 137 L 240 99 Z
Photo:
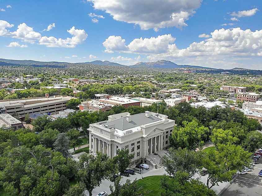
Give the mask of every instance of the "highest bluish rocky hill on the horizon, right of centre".
M 215 68 L 206 68 L 201 66 L 193 66 L 193 65 L 178 65 L 171 61 L 159 60 L 157 62 L 140 62 L 135 65 L 131 65 L 133 68 L 198 68 L 198 69 L 215 69 Z

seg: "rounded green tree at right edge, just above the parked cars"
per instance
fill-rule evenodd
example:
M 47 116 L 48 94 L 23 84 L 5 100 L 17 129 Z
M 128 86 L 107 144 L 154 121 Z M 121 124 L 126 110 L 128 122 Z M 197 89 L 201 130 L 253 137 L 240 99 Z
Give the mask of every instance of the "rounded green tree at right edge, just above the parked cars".
M 241 146 L 249 152 L 255 152 L 256 149 L 262 146 L 262 134 L 258 131 L 249 132 Z

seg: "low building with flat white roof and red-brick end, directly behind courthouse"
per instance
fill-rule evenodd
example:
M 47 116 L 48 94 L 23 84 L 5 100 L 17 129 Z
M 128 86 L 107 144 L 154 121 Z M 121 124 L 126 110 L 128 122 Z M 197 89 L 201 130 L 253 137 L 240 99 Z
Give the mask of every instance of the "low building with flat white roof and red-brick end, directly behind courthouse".
M 105 102 L 113 105 L 122 105 L 125 108 L 128 108 L 130 106 L 140 106 L 140 101 L 122 98 L 122 97 L 109 97 L 109 98 L 103 98 L 98 99 L 100 102 Z

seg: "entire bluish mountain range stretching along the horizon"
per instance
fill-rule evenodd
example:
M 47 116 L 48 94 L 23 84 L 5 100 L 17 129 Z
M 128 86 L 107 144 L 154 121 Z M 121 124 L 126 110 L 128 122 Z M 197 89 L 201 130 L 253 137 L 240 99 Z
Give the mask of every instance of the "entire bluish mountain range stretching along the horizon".
M 41 62 L 41 61 L 33 61 L 33 60 L 11 60 L 11 59 L 0 59 L 0 65 L 25 65 L 25 66 L 64 66 L 66 64 L 73 64 L 67 62 Z M 171 68 L 198 68 L 198 69 L 208 69 L 208 70 L 218 70 L 215 68 L 208 68 L 208 67 L 201 67 L 201 66 L 194 66 L 194 65 L 178 65 L 171 61 L 167 60 L 159 60 L 156 62 L 140 62 L 136 63 L 135 65 L 122 65 L 119 63 L 113 63 L 110 61 L 92 61 L 92 62 L 84 62 L 84 63 L 77 63 L 77 64 L 93 64 L 93 65 L 110 65 L 110 66 L 120 66 L 120 67 L 130 67 L 130 68 L 163 68 L 163 69 L 171 69 Z M 242 69 L 242 68 L 234 68 L 234 69 Z M 221 69 L 223 70 L 223 69 Z M 244 69 L 242 69 L 244 70 Z M 247 70 L 247 69 L 245 69 Z

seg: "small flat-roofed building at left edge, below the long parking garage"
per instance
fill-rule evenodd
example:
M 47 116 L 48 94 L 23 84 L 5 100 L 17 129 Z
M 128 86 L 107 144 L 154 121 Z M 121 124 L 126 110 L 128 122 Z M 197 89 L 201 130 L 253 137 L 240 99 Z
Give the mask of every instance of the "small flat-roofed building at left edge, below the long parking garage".
M 10 114 L 0 114 L 0 127 L 4 129 L 14 128 L 17 130 L 23 127 L 23 123 Z

